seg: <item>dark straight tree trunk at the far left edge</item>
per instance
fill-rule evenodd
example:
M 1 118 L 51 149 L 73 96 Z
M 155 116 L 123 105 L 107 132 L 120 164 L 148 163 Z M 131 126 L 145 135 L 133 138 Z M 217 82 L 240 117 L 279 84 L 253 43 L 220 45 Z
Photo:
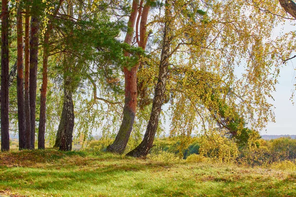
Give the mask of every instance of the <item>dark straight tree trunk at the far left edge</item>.
M 2 0 L 1 19 L 1 151 L 9 151 L 9 49 L 8 49 L 8 0 Z

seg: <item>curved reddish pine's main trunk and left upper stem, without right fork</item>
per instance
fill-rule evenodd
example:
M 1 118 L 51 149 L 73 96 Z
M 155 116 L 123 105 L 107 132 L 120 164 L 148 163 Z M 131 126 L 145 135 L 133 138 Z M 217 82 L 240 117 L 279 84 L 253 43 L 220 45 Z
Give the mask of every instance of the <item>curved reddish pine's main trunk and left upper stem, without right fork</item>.
M 128 21 L 127 33 L 124 42 L 131 45 L 134 35 L 134 27 L 138 12 L 139 0 L 133 0 L 132 11 Z M 129 57 L 130 54 L 125 52 L 125 56 Z M 107 147 L 107 151 L 122 154 L 127 145 L 129 136 L 132 132 L 136 107 L 137 107 L 137 69 L 138 64 L 130 70 L 127 67 L 123 68 L 124 82 L 125 82 L 125 99 L 123 107 L 123 118 L 119 131 L 115 137 L 114 142 Z

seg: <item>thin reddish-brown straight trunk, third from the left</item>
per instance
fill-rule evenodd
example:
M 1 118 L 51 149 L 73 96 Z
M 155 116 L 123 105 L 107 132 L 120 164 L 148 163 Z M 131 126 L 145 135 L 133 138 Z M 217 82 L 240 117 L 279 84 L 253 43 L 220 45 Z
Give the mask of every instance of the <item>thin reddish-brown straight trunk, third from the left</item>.
M 26 149 L 31 149 L 31 117 L 29 99 L 29 67 L 30 67 L 30 7 L 26 8 L 25 16 L 25 124 Z

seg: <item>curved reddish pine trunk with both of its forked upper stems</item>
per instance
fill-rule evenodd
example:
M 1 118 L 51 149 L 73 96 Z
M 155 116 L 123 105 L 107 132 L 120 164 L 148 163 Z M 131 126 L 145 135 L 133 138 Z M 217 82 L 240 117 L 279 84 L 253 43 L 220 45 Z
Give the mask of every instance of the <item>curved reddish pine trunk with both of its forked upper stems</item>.
M 124 42 L 128 45 L 132 44 L 132 38 L 134 34 L 134 28 L 136 25 L 136 41 L 138 46 L 143 50 L 146 49 L 148 35 L 147 35 L 147 21 L 148 13 L 153 1 L 148 0 L 143 6 L 143 0 L 140 2 L 140 7 L 138 10 L 139 0 L 133 0 L 132 11 L 128 21 L 128 30 L 125 36 Z M 137 18 L 138 10 L 138 18 Z M 137 19 L 136 19 L 137 18 Z M 141 18 L 141 22 L 140 22 Z M 139 38 L 139 22 L 140 22 L 140 38 Z M 124 53 L 124 56 L 129 57 L 128 52 Z M 119 128 L 119 131 L 114 139 L 114 142 L 107 147 L 107 151 L 115 152 L 122 154 L 125 150 L 127 142 L 129 140 L 130 134 L 133 129 L 135 117 L 136 117 L 136 108 L 137 108 L 137 70 L 140 66 L 140 62 L 136 62 L 135 65 L 131 67 L 124 66 L 124 81 L 125 81 L 125 99 L 124 99 L 124 108 L 123 108 L 123 118 L 122 123 Z

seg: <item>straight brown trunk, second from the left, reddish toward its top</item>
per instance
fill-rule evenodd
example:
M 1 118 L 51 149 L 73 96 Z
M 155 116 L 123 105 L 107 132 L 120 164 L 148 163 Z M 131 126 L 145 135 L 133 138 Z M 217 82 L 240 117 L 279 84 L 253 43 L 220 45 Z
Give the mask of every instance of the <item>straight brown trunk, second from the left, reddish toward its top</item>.
M 18 4 L 17 6 L 17 114 L 19 129 L 19 149 L 22 150 L 25 148 L 23 19 L 20 4 Z

